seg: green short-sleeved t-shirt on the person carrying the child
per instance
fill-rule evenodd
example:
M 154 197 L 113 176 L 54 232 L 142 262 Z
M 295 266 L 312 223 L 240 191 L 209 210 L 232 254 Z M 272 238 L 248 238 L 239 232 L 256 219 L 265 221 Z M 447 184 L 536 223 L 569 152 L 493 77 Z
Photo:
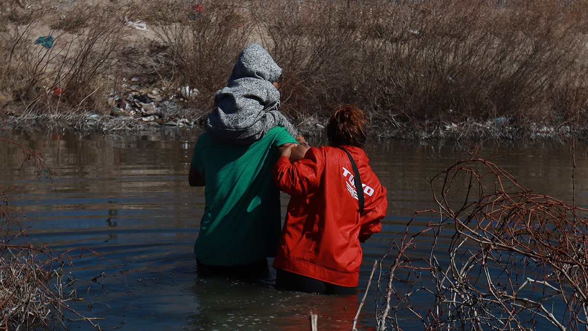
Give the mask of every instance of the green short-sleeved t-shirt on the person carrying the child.
M 192 166 L 206 179 L 206 206 L 194 244 L 200 262 L 234 266 L 275 255 L 282 217 L 272 166 L 277 147 L 286 143 L 296 140 L 282 127 L 250 145 L 222 144 L 208 133 L 198 138 Z

